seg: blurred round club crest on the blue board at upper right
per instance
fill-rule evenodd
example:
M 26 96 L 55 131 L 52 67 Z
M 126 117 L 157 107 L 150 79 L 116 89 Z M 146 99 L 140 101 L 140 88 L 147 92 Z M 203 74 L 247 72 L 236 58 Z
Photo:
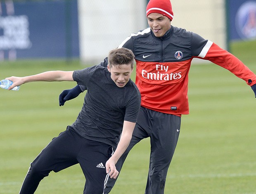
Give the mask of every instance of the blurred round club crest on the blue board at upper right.
M 236 30 L 242 39 L 256 38 L 256 1 L 247 1 L 239 7 L 235 18 Z

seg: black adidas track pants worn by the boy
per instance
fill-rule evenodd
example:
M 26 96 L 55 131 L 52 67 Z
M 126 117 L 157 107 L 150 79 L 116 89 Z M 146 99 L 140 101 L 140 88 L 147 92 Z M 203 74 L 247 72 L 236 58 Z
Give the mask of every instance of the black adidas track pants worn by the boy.
M 102 194 L 108 175 L 106 161 L 111 157 L 110 145 L 87 140 L 72 128 L 55 137 L 31 163 L 20 194 L 33 194 L 40 181 L 49 175 L 80 164 L 86 178 L 84 194 Z

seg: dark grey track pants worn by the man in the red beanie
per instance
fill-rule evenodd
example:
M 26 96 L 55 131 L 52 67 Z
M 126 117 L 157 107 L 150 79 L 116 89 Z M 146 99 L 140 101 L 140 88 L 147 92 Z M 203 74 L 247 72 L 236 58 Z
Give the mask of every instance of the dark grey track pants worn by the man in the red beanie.
M 144 107 L 140 109 L 132 140 L 116 163 L 116 169 L 121 171 L 129 151 L 135 144 L 150 137 L 151 153 L 145 194 L 164 194 L 167 171 L 180 134 L 180 122 L 179 116 L 152 111 Z M 115 182 L 115 179 L 109 179 L 104 194 L 111 191 Z

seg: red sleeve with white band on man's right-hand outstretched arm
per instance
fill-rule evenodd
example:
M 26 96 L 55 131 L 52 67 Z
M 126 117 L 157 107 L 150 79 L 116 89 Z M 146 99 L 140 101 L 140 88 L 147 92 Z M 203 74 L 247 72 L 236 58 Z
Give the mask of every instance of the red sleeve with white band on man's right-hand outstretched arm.
M 208 40 L 203 48 L 204 54 L 199 54 L 199 58 L 209 60 L 225 69 L 228 69 L 235 76 L 243 79 L 250 86 L 256 84 L 256 75 L 245 66 L 237 57 L 230 52 L 223 50 L 215 43 Z M 201 55 L 201 56 L 200 56 Z

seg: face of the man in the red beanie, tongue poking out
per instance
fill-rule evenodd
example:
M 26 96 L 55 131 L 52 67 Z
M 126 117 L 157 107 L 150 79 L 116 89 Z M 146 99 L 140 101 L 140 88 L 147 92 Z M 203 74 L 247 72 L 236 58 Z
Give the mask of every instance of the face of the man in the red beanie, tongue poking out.
M 162 37 L 171 28 L 170 19 L 158 13 L 149 14 L 147 23 L 156 37 Z

